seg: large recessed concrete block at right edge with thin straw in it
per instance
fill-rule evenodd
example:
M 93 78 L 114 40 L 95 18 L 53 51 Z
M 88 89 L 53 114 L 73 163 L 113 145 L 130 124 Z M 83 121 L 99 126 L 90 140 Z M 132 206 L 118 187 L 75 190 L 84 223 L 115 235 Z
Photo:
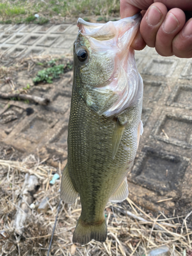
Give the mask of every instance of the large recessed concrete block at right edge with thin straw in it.
M 166 143 L 192 148 L 192 116 L 163 111 L 152 134 Z

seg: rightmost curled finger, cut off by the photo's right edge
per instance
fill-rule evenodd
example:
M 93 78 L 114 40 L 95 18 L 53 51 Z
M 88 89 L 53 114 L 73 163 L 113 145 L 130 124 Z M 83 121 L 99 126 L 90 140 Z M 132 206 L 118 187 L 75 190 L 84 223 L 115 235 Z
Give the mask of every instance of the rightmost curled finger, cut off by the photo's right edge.
M 192 18 L 173 40 L 173 54 L 180 58 L 192 57 Z

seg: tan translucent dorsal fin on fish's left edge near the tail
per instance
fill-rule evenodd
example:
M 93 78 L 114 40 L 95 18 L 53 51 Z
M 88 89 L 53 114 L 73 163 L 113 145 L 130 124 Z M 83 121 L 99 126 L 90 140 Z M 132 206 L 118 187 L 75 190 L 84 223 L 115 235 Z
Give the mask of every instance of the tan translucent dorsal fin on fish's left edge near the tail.
M 60 197 L 68 204 L 72 204 L 78 197 L 78 192 L 75 190 L 71 178 L 69 176 L 68 164 L 62 172 L 61 186 L 60 186 Z

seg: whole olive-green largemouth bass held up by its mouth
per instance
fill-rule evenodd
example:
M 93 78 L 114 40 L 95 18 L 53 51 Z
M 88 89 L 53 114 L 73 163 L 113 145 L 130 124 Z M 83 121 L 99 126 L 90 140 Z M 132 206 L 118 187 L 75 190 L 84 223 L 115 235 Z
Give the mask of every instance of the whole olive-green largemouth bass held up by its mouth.
M 68 162 L 60 197 L 81 201 L 73 243 L 104 242 L 106 204 L 129 194 L 127 173 L 140 135 L 143 81 L 131 47 L 141 14 L 106 24 L 79 18 L 74 42 Z

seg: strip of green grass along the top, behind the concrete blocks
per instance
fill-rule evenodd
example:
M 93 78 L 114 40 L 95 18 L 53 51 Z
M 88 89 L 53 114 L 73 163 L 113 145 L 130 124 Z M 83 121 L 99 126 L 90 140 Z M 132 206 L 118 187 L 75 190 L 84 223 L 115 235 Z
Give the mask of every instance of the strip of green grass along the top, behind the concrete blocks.
M 47 4 L 46 4 L 46 3 Z M 53 16 L 82 18 L 99 15 L 119 16 L 119 0 L 1 0 L 0 23 L 45 24 Z M 39 19 L 34 14 L 39 14 Z

